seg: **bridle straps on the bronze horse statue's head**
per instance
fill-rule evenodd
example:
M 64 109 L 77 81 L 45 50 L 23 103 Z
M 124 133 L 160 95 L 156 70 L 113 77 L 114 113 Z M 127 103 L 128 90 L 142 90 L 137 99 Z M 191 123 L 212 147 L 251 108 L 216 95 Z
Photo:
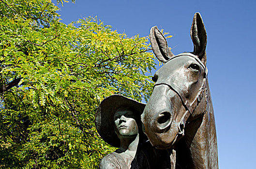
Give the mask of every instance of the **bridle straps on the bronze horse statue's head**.
M 208 70 L 207 70 L 207 67 L 201 62 L 201 60 L 198 59 L 197 56 L 191 54 L 191 53 L 182 53 L 182 54 L 179 54 L 177 56 L 174 56 L 172 58 L 170 58 L 169 60 L 172 60 L 176 57 L 180 57 L 180 56 L 191 56 L 193 58 L 196 59 L 196 61 L 203 67 L 203 69 L 205 70 L 205 74 L 204 74 L 204 79 L 203 79 L 203 82 L 202 82 L 202 85 L 195 97 L 195 99 L 190 103 L 189 100 L 186 99 L 186 97 L 184 96 L 184 94 L 180 93 L 176 88 L 177 86 L 175 84 L 172 84 L 170 82 L 160 82 L 160 83 L 157 83 L 154 85 L 157 86 L 157 85 L 161 85 L 161 84 L 164 84 L 164 85 L 167 85 L 171 90 L 173 90 L 175 93 L 178 94 L 178 96 L 181 98 L 181 102 L 182 102 L 182 105 L 185 107 L 186 109 L 186 112 L 183 114 L 183 116 L 181 117 L 181 121 L 178 123 L 178 129 L 179 129 L 179 132 L 175 138 L 174 141 L 177 140 L 177 137 L 178 136 L 181 136 L 183 137 L 184 136 L 184 128 L 185 128 L 185 124 L 188 120 L 188 118 L 193 114 L 194 110 L 196 109 L 197 105 L 199 104 L 199 102 L 201 101 L 201 99 L 203 99 L 203 97 L 205 96 L 206 98 L 208 97 L 207 96 L 207 87 L 206 87 L 206 80 L 207 80 L 207 74 L 208 74 Z M 168 60 L 168 61 L 169 61 Z M 153 87 L 153 88 L 154 88 Z M 206 99 L 206 102 L 207 102 L 207 99 Z M 208 102 L 207 102 L 208 104 Z M 206 106 L 206 110 L 205 112 L 207 111 L 207 107 L 208 105 Z M 204 112 L 204 113 L 205 113 Z

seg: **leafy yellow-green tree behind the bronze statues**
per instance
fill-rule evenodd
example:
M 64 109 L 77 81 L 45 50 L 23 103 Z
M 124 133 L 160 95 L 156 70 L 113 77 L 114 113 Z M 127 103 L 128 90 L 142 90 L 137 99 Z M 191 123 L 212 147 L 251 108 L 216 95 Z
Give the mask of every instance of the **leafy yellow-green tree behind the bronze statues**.
M 62 0 L 61 0 L 62 2 Z M 0 0 L 0 168 L 96 168 L 100 101 L 150 96 L 148 37 L 97 18 L 61 23 L 51 0 Z

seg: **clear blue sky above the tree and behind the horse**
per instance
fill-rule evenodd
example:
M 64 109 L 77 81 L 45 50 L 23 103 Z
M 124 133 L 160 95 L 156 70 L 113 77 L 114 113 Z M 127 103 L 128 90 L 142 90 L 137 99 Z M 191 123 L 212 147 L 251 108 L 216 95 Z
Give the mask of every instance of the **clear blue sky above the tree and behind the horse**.
M 97 16 L 129 37 L 148 36 L 156 25 L 173 35 L 168 44 L 175 55 L 193 51 L 189 32 L 200 12 L 219 168 L 256 169 L 256 0 L 76 0 L 59 7 L 65 24 Z

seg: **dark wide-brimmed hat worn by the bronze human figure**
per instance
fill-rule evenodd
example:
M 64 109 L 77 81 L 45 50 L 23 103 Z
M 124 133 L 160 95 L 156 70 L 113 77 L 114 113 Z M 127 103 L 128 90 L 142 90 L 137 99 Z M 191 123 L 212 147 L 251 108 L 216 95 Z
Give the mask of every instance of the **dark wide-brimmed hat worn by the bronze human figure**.
M 120 139 L 115 133 L 114 114 L 120 107 L 130 107 L 135 110 L 134 113 L 138 113 L 135 115 L 140 116 L 145 106 L 144 103 L 122 95 L 112 95 L 102 100 L 95 115 L 96 128 L 101 138 L 108 144 L 119 148 Z

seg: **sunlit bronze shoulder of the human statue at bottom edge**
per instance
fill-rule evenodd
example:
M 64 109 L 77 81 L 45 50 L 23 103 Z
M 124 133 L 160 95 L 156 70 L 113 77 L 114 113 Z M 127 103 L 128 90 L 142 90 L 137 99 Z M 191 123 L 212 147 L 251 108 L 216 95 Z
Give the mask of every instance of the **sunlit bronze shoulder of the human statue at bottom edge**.
M 110 153 L 102 158 L 100 169 L 121 169 L 120 162 L 113 153 Z

